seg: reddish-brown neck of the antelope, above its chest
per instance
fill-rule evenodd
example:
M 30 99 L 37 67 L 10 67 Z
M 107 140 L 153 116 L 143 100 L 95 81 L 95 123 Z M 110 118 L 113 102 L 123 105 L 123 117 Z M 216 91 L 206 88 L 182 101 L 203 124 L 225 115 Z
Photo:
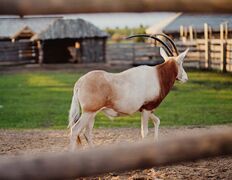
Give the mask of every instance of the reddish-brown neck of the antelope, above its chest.
M 160 97 L 163 99 L 173 87 L 177 74 L 178 67 L 176 61 L 168 60 L 157 66 L 157 73 L 160 83 Z

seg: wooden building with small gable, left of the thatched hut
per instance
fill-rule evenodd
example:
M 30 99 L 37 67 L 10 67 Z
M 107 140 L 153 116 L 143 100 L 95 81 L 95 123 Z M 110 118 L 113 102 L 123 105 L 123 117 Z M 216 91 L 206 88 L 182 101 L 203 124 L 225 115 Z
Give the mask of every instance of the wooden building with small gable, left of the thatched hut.
M 58 18 L 58 17 L 57 17 Z M 37 41 L 30 39 L 57 18 L 0 18 L 0 64 L 38 62 Z

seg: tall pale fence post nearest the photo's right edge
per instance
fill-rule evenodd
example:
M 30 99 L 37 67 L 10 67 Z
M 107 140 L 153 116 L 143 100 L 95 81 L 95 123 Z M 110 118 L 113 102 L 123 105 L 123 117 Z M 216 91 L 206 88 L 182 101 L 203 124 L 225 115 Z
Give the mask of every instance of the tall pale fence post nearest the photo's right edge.
M 224 40 L 224 25 L 220 24 L 221 61 L 220 70 L 226 72 L 226 42 Z

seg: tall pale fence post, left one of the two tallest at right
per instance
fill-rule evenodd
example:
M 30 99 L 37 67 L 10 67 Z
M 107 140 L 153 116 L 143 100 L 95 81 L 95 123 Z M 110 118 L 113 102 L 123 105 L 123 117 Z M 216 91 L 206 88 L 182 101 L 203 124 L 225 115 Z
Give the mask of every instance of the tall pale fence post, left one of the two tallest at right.
M 205 62 L 204 62 L 204 68 L 211 69 L 209 27 L 208 27 L 208 24 L 206 24 L 206 23 L 204 24 L 204 36 L 205 36 Z

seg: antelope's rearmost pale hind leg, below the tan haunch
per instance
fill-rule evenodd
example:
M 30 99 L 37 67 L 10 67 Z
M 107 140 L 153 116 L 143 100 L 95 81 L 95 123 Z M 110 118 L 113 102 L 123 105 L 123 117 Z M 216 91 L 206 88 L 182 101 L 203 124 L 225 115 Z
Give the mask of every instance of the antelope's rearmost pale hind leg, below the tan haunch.
M 78 148 L 78 143 L 80 141 L 79 134 L 86 127 L 91 119 L 93 119 L 95 113 L 83 112 L 80 119 L 72 126 L 70 135 L 70 150 L 74 151 Z

